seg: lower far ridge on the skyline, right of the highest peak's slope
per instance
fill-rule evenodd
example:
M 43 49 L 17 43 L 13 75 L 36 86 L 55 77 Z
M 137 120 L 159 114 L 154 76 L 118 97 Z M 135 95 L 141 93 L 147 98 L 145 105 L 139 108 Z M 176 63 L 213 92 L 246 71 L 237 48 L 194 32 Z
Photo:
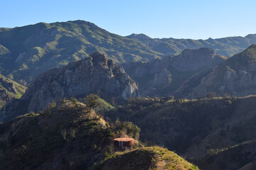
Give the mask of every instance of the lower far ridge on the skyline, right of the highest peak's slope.
M 209 47 L 215 50 L 218 55 L 230 57 L 256 43 L 256 34 L 249 34 L 245 37 L 208 38 L 208 40 L 149 38 L 149 36 L 144 34 L 132 34 L 127 36 L 127 38 L 142 42 L 152 50 L 161 52 L 164 55 L 177 55 L 186 48 L 198 49 L 200 47 Z

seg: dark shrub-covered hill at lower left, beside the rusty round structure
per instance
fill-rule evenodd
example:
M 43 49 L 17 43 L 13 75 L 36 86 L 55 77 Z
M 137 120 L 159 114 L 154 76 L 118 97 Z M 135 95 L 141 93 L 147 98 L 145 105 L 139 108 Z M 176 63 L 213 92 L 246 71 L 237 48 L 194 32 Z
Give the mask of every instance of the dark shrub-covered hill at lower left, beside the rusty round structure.
M 75 98 L 52 103 L 0 125 L 0 169 L 86 169 L 113 153 L 119 129 Z

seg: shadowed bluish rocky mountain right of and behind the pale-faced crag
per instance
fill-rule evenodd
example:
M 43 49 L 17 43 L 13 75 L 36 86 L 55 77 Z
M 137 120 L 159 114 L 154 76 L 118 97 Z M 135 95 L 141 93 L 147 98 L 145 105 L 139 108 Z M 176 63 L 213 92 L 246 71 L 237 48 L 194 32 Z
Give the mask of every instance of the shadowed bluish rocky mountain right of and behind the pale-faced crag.
M 168 96 L 188 77 L 226 59 L 210 48 L 200 48 L 186 49 L 180 55 L 151 62 L 126 62 L 122 66 L 139 83 L 143 96 Z

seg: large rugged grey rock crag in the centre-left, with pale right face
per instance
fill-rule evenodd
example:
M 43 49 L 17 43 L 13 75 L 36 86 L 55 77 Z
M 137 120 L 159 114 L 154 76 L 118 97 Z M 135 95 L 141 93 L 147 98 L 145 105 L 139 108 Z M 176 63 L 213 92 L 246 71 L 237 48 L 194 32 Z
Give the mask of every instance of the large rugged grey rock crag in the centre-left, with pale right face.
M 139 96 L 137 84 L 100 52 L 93 52 L 78 62 L 63 68 L 50 69 L 33 80 L 26 93 L 1 110 L 0 119 L 10 120 L 30 111 L 41 111 L 53 101 L 63 98 L 98 94 L 107 101 L 118 101 Z

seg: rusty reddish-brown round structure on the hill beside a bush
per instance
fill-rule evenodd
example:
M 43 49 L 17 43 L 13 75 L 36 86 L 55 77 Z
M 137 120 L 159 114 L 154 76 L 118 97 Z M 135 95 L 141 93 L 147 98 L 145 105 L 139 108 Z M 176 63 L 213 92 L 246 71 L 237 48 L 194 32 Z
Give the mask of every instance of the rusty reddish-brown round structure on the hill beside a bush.
M 125 151 L 133 147 L 135 143 L 134 138 L 120 137 L 114 139 L 114 149 L 119 151 Z

